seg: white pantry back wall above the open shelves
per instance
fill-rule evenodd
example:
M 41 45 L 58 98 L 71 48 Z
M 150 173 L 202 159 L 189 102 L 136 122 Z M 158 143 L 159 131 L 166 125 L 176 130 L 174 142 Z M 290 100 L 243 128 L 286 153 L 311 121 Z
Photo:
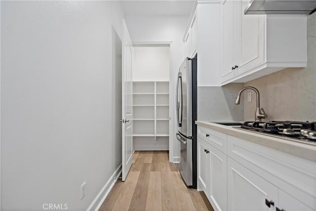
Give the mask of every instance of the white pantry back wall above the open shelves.
M 169 46 L 135 46 L 133 81 L 169 81 Z

